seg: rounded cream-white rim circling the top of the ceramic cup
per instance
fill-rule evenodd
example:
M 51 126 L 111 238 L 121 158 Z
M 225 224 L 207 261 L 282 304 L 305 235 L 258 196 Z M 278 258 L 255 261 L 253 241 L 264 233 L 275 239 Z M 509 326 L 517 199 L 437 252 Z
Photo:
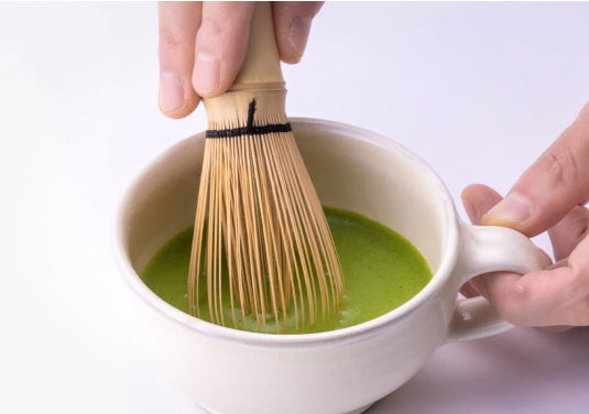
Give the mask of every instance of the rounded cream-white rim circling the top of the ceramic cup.
M 432 280 L 411 299 L 403 303 L 401 306 L 388 312 L 384 315 L 350 327 L 314 334 L 276 335 L 238 330 L 229 327 L 215 325 L 203 319 L 198 319 L 197 317 L 188 315 L 170 305 L 167 302 L 163 301 L 154 292 L 152 292 L 143 283 L 138 272 L 135 272 L 135 270 L 133 269 L 130 258 L 127 255 L 126 217 L 128 214 L 128 208 L 132 204 L 131 196 L 133 195 L 134 189 L 137 188 L 139 183 L 142 182 L 144 176 L 149 174 L 149 172 L 155 165 L 162 162 L 162 160 L 166 159 L 171 153 L 173 153 L 178 146 L 186 144 L 186 142 L 189 142 L 190 140 L 199 138 L 201 139 L 204 132 L 199 132 L 188 138 L 185 138 L 178 142 L 175 142 L 154 160 L 146 163 L 146 165 L 141 168 L 139 174 L 137 174 L 134 178 L 131 179 L 130 184 L 126 187 L 122 201 L 120 203 L 118 208 L 116 229 L 113 235 L 116 247 L 114 253 L 119 263 L 119 268 L 121 270 L 122 277 L 133 291 L 133 293 L 154 312 L 159 313 L 160 315 L 176 324 L 184 326 L 185 328 L 188 328 L 192 331 L 199 333 L 207 337 L 214 337 L 217 339 L 228 340 L 232 342 L 266 347 L 299 347 L 302 345 L 320 346 L 331 342 L 358 341 L 363 339 L 364 337 L 374 336 L 381 330 L 399 324 L 400 322 L 418 310 L 419 306 L 423 303 L 433 298 L 437 294 L 437 292 L 443 288 L 444 284 L 452 273 L 451 270 L 457 259 L 459 230 L 456 208 L 454 206 L 451 196 L 439 175 L 421 157 L 418 157 L 416 154 L 411 152 L 408 149 L 406 149 L 399 142 L 382 134 L 372 132 L 370 130 L 338 121 L 323 120 L 316 118 L 295 117 L 290 118 L 290 121 L 295 130 L 297 126 L 309 126 L 319 130 L 329 131 L 331 133 L 339 132 L 347 135 L 361 135 L 363 141 L 368 141 L 383 149 L 389 149 L 394 152 L 401 153 L 404 159 L 408 160 L 416 167 L 429 174 L 433 183 L 437 186 L 437 189 L 439 192 L 439 207 L 444 209 L 443 217 L 445 218 L 447 224 L 446 235 L 444 235 L 445 240 L 443 240 L 445 248 L 441 254 L 438 269 L 432 275 Z

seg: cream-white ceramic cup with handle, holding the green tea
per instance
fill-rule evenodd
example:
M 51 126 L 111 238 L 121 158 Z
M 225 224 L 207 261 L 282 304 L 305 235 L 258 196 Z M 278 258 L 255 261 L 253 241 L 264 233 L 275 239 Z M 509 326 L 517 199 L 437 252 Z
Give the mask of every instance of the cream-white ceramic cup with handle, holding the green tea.
M 320 334 L 239 331 L 177 310 L 138 274 L 163 242 L 194 220 L 204 133 L 178 142 L 128 192 L 118 250 L 122 275 L 149 320 L 157 366 L 210 413 L 360 413 L 406 382 L 443 344 L 509 328 L 483 298 L 457 299 L 466 281 L 542 265 L 538 250 L 521 233 L 461 222 L 438 176 L 394 141 L 324 120 L 292 124 L 321 203 L 400 232 L 434 276 L 401 307 Z

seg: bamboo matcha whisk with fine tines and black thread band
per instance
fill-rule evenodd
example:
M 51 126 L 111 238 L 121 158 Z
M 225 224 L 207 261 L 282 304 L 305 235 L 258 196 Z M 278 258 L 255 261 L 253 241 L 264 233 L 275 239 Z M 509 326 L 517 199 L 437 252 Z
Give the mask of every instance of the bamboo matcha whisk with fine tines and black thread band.
M 218 325 L 297 333 L 339 316 L 343 285 L 285 115 L 270 3 L 255 4 L 248 47 L 230 90 L 205 99 L 188 305 Z

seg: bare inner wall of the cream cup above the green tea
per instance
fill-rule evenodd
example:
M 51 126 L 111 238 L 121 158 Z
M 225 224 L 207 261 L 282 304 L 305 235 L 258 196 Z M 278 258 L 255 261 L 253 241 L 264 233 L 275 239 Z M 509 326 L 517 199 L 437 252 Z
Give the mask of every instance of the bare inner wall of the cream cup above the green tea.
M 410 240 L 432 269 L 429 286 L 456 240 L 454 205 L 437 175 L 373 132 L 330 121 L 291 121 L 321 204 L 359 213 Z M 137 274 L 165 241 L 194 224 L 204 145 L 204 133 L 175 144 L 129 192 L 121 239 Z

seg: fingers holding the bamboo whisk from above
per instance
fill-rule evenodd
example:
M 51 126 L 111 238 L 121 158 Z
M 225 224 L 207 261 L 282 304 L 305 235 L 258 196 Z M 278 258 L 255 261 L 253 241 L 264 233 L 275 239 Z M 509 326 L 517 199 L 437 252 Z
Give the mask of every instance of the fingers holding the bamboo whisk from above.
M 274 31 L 281 61 L 297 63 L 310 22 L 323 2 L 275 2 Z M 214 97 L 233 83 L 248 47 L 253 2 L 161 2 L 160 110 L 184 118 L 201 97 Z

